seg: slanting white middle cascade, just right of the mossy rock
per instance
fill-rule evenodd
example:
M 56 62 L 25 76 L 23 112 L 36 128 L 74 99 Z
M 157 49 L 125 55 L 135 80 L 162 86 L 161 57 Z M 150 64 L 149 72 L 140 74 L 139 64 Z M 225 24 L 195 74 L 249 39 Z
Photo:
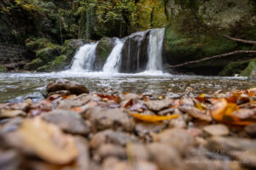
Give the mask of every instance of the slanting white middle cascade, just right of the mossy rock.
M 119 72 L 121 52 L 124 45 L 124 41 L 122 39 L 116 38 L 114 43 L 114 48 L 111 54 L 109 54 L 105 65 L 103 66 L 104 72 Z

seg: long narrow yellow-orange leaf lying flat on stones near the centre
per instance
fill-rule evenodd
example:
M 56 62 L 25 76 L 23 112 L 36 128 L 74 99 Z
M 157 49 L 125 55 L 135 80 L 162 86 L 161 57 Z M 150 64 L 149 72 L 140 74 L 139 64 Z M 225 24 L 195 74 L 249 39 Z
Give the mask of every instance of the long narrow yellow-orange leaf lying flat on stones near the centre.
M 171 116 L 156 116 L 156 115 L 143 115 L 138 113 L 130 113 L 132 116 L 137 118 L 138 120 L 144 121 L 144 122 L 160 122 L 170 119 L 176 119 L 178 115 L 171 115 Z

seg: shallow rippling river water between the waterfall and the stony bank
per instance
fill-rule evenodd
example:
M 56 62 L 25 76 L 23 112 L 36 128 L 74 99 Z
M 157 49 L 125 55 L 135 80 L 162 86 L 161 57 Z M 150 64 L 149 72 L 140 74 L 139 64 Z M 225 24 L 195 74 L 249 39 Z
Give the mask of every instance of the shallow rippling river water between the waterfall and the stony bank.
M 253 82 L 245 77 L 198 77 L 173 76 L 161 72 L 138 74 L 106 74 L 103 72 L 58 72 L 58 73 L 6 73 L 0 74 L 0 103 L 20 101 L 27 98 L 43 99 L 46 85 L 55 79 L 67 78 L 84 84 L 90 92 L 102 92 L 104 88 L 131 93 L 164 94 L 171 89 L 174 93 L 186 88 L 195 88 L 195 94 L 212 94 L 218 89 L 253 88 Z M 254 85 L 255 86 L 255 85 Z

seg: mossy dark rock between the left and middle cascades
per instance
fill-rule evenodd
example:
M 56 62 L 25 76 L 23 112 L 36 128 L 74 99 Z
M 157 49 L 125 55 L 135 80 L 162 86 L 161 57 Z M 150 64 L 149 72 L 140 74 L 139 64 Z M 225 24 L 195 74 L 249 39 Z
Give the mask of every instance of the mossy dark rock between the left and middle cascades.
M 113 49 L 113 41 L 113 38 L 102 37 L 102 39 L 98 42 L 96 47 L 96 59 L 94 64 L 94 69 L 96 71 L 102 70 L 103 65 L 108 59 L 108 55 Z

